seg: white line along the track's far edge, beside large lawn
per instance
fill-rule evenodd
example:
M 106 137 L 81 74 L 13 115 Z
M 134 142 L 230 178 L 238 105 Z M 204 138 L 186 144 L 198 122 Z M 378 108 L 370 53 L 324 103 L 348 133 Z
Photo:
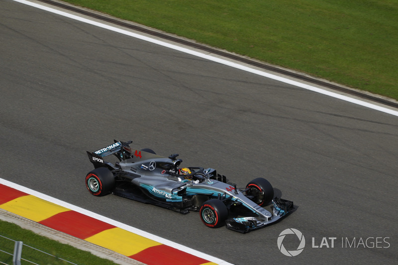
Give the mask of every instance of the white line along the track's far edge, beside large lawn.
M 91 24 L 91 25 L 95 25 L 95 26 L 98 26 L 98 27 L 101 27 L 101 28 L 112 30 L 112 31 L 115 31 L 115 32 L 118 32 L 118 33 L 121 33 L 121 34 L 124 34 L 124 35 L 128 35 L 128 36 L 134 37 L 134 38 L 138 38 L 138 39 L 141 39 L 141 40 L 145 40 L 145 41 L 148 41 L 148 42 L 159 44 L 161 46 L 168 47 L 168 48 L 171 48 L 171 49 L 174 49 L 174 50 L 177 50 L 177 51 L 181 51 L 181 52 L 184 52 L 184 53 L 188 53 L 188 54 L 191 54 L 191 55 L 194 55 L 194 56 L 198 56 L 200 58 L 207 59 L 207 60 L 210 60 L 210 61 L 213 61 L 213 62 L 217 62 L 217 63 L 224 64 L 224 65 L 228 65 L 230 67 L 234 67 L 234 68 L 237 68 L 237 69 L 240 69 L 240 70 L 243 70 L 243 71 L 246 71 L 246 72 L 250 72 L 250 73 L 253 73 L 253 74 L 256 74 L 256 75 L 259 75 L 259 76 L 263 76 L 263 77 L 266 77 L 266 78 L 277 80 L 277 81 L 280 81 L 280 82 L 283 82 L 283 83 L 286 83 L 286 84 L 290 84 L 290 85 L 293 85 L 293 86 L 296 86 L 296 87 L 299 87 L 299 88 L 308 89 L 308 90 L 311 90 L 311 91 L 314 91 L 314 92 L 318 92 L 318 93 L 321 93 L 321 94 L 324 94 L 324 95 L 328 95 L 328 96 L 331 96 L 331 97 L 339 98 L 341 100 L 345 100 L 345 101 L 348 101 L 348 102 L 351 102 L 351 103 L 354 103 L 354 104 L 358 104 L 358 105 L 361 105 L 361 106 L 365 106 L 365 107 L 368 107 L 368 108 L 372 108 L 372 109 L 375 109 L 375 110 L 379 110 L 379 111 L 382 111 L 382 112 L 385 112 L 385 113 L 389 113 L 389 114 L 398 116 L 398 111 L 397 110 L 389 109 L 389 108 L 386 108 L 386 107 L 383 107 L 383 106 L 379 106 L 379 105 L 376 105 L 376 104 L 373 104 L 373 103 L 369 103 L 369 102 L 366 102 L 366 101 L 355 99 L 355 98 L 352 98 L 350 96 L 338 94 L 338 93 L 335 93 L 335 92 L 332 92 L 332 91 L 328 91 L 328 90 L 325 90 L 325 89 L 322 89 L 322 88 L 316 88 L 316 87 L 313 87 L 313 86 L 310 86 L 310 85 L 302 84 L 300 82 L 293 81 L 293 80 L 290 80 L 290 79 L 287 79 L 287 78 L 284 78 L 284 77 L 280 77 L 280 76 L 277 76 L 277 75 L 274 75 L 274 74 L 270 74 L 270 73 L 266 73 L 266 72 L 263 72 L 263 71 L 260 71 L 260 70 L 252 69 L 250 67 L 247 67 L 247 66 L 244 66 L 244 65 L 240 65 L 238 63 L 227 61 L 227 60 L 224 60 L 224 59 L 221 59 L 221 58 L 217 58 L 217 57 L 214 57 L 214 56 L 211 56 L 211 55 L 208 55 L 208 54 L 204 54 L 204 53 L 201 53 L 201 52 L 198 52 L 198 51 L 193 51 L 193 50 L 190 50 L 190 49 L 187 49 L 187 48 L 184 48 L 184 47 L 180 47 L 178 45 L 170 44 L 170 43 L 167 43 L 167 42 L 164 42 L 164 41 L 161 41 L 161 40 L 157 40 L 157 39 L 154 39 L 154 38 L 143 36 L 143 35 L 140 35 L 140 34 L 137 34 L 137 33 L 133 33 L 133 32 L 124 30 L 124 29 L 120 29 L 120 28 L 117 28 L 117 27 L 106 25 L 104 23 L 100 23 L 100 22 L 97 22 L 97 21 L 94 21 L 94 20 L 91 20 L 91 19 L 88 19 L 88 18 L 84 18 L 84 17 L 78 16 L 78 15 L 73 15 L 73 14 L 70 14 L 70 13 L 67 13 L 67 12 L 64 12 L 64 11 L 61 11 L 61 10 L 57 10 L 57 9 L 54 9 L 54 8 L 51 8 L 51 7 L 48 7 L 48 6 L 44 6 L 44 5 L 39 4 L 39 3 L 34 3 L 34 2 L 27 1 L 27 0 L 14 0 L 14 1 L 17 1 L 17 2 L 20 2 L 20 3 L 24 3 L 24 4 L 27 4 L 27 5 L 33 6 L 33 7 L 37 7 L 37 8 L 52 12 L 52 13 L 56 13 L 56 14 L 62 15 L 62 16 L 73 18 L 73 19 L 76 19 L 76 20 L 79 20 L 79 21 L 82 21 L 82 22 L 85 22 L 85 23 L 88 23 L 88 24 Z

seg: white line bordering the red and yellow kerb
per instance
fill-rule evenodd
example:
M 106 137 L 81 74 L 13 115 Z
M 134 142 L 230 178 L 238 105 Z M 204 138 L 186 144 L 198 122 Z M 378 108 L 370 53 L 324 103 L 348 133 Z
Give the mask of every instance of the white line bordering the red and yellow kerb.
M 159 243 L 161 243 L 161 244 L 163 244 L 163 245 L 170 246 L 170 247 L 172 247 L 172 248 L 175 248 L 175 249 L 181 250 L 181 251 L 183 251 L 183 252 L 192 254 L 192 255 L 194 255 L 194 256 L 196 256 L 196 257 L 202 258 L 202 259 L 207 260 L 207 261 L 209 261 L 209 262 L 213 262 L 213 263 L 216 263 L 216 264 L 219 264 L 219 265 L 232 265 L 232 264 L 230 264 L 230 263 L 228 263 L 228 262 L 226 262 L 226 261 L 220 260 L 220 259 L 215 258 L 215 257 L 213 257 L 213 256 L 210 256 L 210 255 L 201 253 L 201 252 L 199 252 L 199 251 L 197 251 L 197 250 L 194 250 L 194 249 L 188 248 L 188 247 L 186 247 L 186 246 L 180 245 L 180 244 L 178 244 L 178 243 L 175 243 L 175 242 L 173 242 L 173 241 L 170 241 L 170 240 L 167 240 L 167 239 L 158 237 L 158 236 L 156 236 L 156 235 L 150 234 L 150 233 L 148 233 L 148 232 L 145 232 L 145 231 L 143 231 L 143 230 L 137 229 L 137 228 L 135 228 L 135 227 L 132 227 L 132 226 L 129 226 L 129 225 L 120 223 L 120 222 L 118 222 L 118 221 L 115 221 L 115 220 L 113 220 L 113 219 L 107 218 L 107 217 L 102 216 L 102 215 L 100 215 L 100 214 L 97 214 L 97 213 L 95 213 L 95 212 L 92 212 L 92 211 L 88 211 L 88 210 L 86 210 L 86 209 L 83 209 L 83 208 L 81 208 L 81 207 L 79 207 L 79 206 L 76 206 L 76 205 L 70 204 L 70 203 L 68 203 L 68 202 L 59 200 L 59 199 L 57 199 L 57 198 L 48 196 L 48 195 L 43 194 L 43 193 L 41 193 L 41 192 L 38 192 L 38 191 L 36 191 L 36 190 L 33 190 L 33 189 L 30 189 L 30 188 L 27 188 L 27 187 L 18 185 L 18 184 L 16 184 L 16 183 L 11 182 L 11 181 L 8 181 L 8 180 L 6 180 L 6 179 L 0 178 L 0 184 L 3 184 L 3 185 L 5 185 L 5 186 L 8 186 L 8 187 L 11 187 L 11 188 L 20 190 L 20 191 L 22 191 L 22 192 L 31 194 L 31 195 L 33 195 L 33 196 L 36 196 L 36 197 L 40 198 L 40 199 L 43 199 L 43 200 L 46 200 L 46 201 L 55 203 L 55 204 L 57 204 L 57 205 L 60 205 L 60 206 L 65 207 L 65 208 L 67 208 L 67 209 L 73 210 L 73 211 L 75 211 L 75 212 L 79 212 L 79 213 L 81 213 L 81 214 L 84 214 L 84 215 L 93 217 L 93 218 L 95 218 L 95 219 L 97 219 L 97 220 L 100 220 L 100 221 L 102 221 L 102 222 L 111 224 L 111 225 L 113 225 L 113 226 L 119 227 L 119 228 L 124 229 L 124 230 L 126 230 L 126 231 L 129 231 L 129 232 L 131 232 L 131 233 L 134 233 L 134 234 L 136 234 L 136 235 L 139 235 L 139 236 L 142 236 L 142 237 L 151 239 L 151 240 L 153 240 L 153 241 L 159 242 Z

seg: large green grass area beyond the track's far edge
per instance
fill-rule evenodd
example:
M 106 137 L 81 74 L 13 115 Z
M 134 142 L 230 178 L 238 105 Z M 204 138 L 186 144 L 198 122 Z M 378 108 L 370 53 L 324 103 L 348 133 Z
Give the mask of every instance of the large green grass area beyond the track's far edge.
M 398 99 L 397 0 L 67 0 Z

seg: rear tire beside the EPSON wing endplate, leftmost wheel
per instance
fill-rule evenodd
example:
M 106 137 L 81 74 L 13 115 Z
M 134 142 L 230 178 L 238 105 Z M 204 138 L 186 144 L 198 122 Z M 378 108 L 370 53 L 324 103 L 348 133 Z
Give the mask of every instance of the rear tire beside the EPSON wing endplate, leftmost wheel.
M 94 196 L 105 196 L 115 187 L 115 178 L 107 168 L 97 168 L 86 176 L 86 187 Z

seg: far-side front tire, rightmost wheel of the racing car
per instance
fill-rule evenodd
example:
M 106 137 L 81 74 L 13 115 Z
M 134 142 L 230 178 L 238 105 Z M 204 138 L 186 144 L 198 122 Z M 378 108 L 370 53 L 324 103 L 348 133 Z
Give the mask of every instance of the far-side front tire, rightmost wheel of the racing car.
M 253 201 L 260 206 L 266 206 L 274 198 L 274 188 L 270 181 L 263 177 L 258 177 L 247 183 L 246 195 L 254 197 Z

